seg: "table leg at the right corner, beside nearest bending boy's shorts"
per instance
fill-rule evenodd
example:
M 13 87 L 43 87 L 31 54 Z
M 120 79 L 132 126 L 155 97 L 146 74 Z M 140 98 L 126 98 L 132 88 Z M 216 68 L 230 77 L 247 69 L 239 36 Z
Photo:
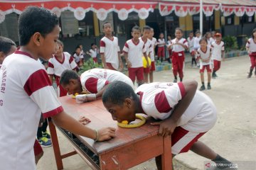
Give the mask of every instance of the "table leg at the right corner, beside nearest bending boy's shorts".
M 171 137 L 164 137 L 164 154 L 161 155 L 161 164 L 163 170 L 172 169 L 171 157 Z

